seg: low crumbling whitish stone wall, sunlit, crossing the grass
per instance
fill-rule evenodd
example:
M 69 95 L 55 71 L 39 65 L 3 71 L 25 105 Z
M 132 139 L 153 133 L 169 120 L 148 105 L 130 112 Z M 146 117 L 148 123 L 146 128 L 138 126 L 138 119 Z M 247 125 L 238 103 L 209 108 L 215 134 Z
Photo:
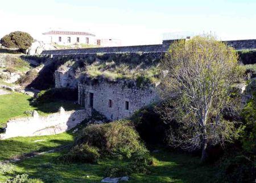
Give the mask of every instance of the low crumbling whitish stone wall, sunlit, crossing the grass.
M 65 111 L 62 107 L 59 113 L 51 114 L 47 117 L 40 117 L 34 111 L 33 117 L 9 120 L 5 134 L 1 134 L 0 138 L 60 134 L 75 127 L 86 117 L 85 110 Z

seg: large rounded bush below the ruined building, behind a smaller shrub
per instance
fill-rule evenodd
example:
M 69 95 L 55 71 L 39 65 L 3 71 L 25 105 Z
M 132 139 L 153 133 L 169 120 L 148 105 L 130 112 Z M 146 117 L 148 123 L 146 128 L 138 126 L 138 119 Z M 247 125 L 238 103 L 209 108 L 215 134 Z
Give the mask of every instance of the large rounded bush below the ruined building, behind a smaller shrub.
M 76 144 L 88 144 L 100 149 L 101 155 L 130 158 L 133 153 L 146 151 L 129 120 L 90 125 L 78 136 Z

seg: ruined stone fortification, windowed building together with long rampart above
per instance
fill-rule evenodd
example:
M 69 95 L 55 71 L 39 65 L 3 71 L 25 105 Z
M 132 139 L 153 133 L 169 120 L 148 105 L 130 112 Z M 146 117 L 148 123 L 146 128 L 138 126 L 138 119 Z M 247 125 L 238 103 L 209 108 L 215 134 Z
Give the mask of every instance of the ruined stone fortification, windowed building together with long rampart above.
M 109 69 L 111 61 L 115 65 L 141 66 L 141 70 L 150 70 L 150 65 L 157 65 L 161 57 L 168 51 L 174 40 L 163 41 L 163 44 L 139 45 L 129 47 L 86 48 L 43 51 L 42 55 L 51 57 L 69 56 L 74 60 L 86 60 L 86 64 L 97 67 L 104 65 Z M 256 40 L 226 41 L 237 49 L 255 49 Z M 110 68 L 111 70 L 111 68 Z M 113 70 L 113 69 L 112 69 Z M 131 69 L 132 70 L 132 69 Z M 108 73 L 109 70 L 101 70 Z M 128 71 L 131 72 L 130 70 Z M 92 114 L 92 109 L 104 114 L 110 120 L 130 117 L 135 111 L 158 101 L 156 85 L 139 86 L 137 80 L 101 78 L 76 78 L 75 68 L 56 70 L 55 86 L 57 88 L 77 88 L 80 105 L 85 113 Z

